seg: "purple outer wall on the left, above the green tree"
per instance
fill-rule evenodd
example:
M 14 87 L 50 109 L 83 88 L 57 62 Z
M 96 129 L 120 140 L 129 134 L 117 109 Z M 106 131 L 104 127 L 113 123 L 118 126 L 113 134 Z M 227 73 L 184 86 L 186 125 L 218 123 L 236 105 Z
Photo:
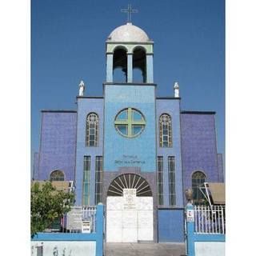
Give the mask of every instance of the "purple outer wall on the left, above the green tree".
M 62 170 L 66 181 L 74 180 L 77 114 L 42 111 L 38 180 L 49 180 L 53 170 Z

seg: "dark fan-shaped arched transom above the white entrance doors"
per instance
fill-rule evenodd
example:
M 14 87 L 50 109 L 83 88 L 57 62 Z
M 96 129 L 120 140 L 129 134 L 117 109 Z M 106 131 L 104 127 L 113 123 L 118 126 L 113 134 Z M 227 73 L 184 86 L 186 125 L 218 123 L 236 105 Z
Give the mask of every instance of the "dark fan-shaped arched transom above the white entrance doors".
M 122 197 L 124 189 L 135 189 L 137 197 L 152 197 L 152 191 L 145 178 L 138 174 L 121 174 L 110 183 L 107 196 Z

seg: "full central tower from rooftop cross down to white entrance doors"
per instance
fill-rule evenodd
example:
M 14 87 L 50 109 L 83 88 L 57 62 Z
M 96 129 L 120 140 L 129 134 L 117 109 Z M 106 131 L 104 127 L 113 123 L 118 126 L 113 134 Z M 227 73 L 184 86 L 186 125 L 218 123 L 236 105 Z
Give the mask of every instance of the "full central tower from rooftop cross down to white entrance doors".
M 154 241 L 157 237 L 154 42 L 131 23 L 130 13 L 134 10 L 130 5 L 124 11 L 128 13 L 128 22 L 113 30 L 106 40 L 103 143 L 106 242 Z M 112 206 L 121 206 L 123 210 Z M 142 225 L 145 219 L 147 226 Z

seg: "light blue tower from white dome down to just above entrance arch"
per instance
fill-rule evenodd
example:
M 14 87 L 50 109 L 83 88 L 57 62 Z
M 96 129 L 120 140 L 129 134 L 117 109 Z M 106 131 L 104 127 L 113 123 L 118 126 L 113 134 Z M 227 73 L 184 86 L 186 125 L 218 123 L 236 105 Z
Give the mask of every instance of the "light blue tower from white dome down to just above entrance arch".
M 105 175 L 126 168 L 156 171 L 153 46 L 146 32 L 130 20 L 106 40 Z

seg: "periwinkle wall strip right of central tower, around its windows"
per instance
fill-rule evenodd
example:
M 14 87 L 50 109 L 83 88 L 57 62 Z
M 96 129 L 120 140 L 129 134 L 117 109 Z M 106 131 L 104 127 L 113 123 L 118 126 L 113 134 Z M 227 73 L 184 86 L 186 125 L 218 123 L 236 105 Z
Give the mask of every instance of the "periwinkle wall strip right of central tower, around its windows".
M 181 155 L 181 126 L 180 126 L 180 100 L 179 99 L 157 99 L 157 154 L 163 157 L 163 201 L 164 206 L 169 206 L 169 178 L 168 178 L 168 156 L 175 157 L 175 192 L 176 206 L 183 206 L 182 186 L 182 155 Z M 172 119 L 172 141 L 171 147 L 159 146 L 159 118 L 161 114 L 170 114 Z

